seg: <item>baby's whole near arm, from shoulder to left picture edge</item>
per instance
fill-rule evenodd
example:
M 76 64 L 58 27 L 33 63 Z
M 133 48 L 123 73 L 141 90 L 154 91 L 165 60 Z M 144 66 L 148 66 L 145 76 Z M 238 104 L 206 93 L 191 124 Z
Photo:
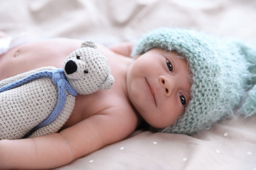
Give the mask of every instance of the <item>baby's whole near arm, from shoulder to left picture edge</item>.
M 125 139 L 135 129 L 136 120 L 125 119 L 107 109 L 53 133 L 32 139 L 0 141 L 0 169 L 49 169 L 66 165 L 95 150 Z

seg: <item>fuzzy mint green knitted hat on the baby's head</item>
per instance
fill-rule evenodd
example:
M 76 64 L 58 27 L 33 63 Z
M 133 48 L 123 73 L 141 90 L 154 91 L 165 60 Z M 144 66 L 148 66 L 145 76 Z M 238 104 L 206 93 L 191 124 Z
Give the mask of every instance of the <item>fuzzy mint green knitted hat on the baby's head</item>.
M 152 48 L 179 52 L 192 71 L 192 99 L 184 113 L 172 126 L 152 127 L 154 131 L 193 135 L 209 129 L 232 115 L 245 96 L 249 97 L 243 101 L 241 112 L 247 116 L 256 113 L 255 49 L 234 39 L 217 39 L 187 29 L 159 28 L 142 37 L 132 56 Z

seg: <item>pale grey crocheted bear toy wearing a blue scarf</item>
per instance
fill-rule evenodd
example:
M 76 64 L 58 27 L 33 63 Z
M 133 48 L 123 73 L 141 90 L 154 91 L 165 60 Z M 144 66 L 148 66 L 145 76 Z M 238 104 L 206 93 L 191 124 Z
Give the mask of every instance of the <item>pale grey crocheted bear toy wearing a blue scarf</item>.
M 0 82 L 0 140 L 57 132 L 68 120 L 77 93 L 112 87 L 108 59 L 85 41 L 62 69 L 41 67 Z

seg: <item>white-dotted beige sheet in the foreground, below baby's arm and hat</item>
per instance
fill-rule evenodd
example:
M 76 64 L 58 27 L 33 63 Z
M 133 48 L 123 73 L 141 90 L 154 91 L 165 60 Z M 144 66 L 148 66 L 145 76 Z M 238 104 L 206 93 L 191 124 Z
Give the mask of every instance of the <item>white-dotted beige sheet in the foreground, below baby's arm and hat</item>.
M 194 137 L 137 131 L 58 169 L 241 169 L 256 168 L 256 116 L 231 118 Z

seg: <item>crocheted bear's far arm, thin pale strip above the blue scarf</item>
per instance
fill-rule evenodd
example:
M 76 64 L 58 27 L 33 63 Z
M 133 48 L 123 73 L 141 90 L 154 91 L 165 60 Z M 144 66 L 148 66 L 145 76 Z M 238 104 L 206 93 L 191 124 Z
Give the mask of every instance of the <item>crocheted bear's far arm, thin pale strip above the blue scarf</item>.
M 47 71 L 47 70 L 51 71 L 51 70 L 54 70 L 54 69 L 56 69 L 56 67 L 41 67 L 39 69 L 34 69 L 32 71 L 28 71 L 28 72 L 22 73 L 20 75 L 11 76 L 9 78 L 6 78 L 6 79 L 0 81 L 0 88 L 9 84 L 9 83 L 11 83 L 11 82 L 14 82 L 16 80 L 20 80 L 22 78 L 25 78 L 28 75 L 32 75 L 33 73 L 38 73 L 40 71 Z

